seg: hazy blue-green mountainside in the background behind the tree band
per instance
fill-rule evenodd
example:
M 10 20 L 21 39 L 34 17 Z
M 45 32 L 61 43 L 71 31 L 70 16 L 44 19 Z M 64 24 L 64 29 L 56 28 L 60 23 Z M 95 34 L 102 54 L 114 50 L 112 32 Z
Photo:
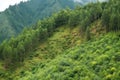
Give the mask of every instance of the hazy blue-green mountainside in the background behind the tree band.
M 0 14 L 0 41 L 17 35 L 24 27 L 61 9 L 73 9 L 74 5 L 72 0 L 30 0 L 10 6 Z

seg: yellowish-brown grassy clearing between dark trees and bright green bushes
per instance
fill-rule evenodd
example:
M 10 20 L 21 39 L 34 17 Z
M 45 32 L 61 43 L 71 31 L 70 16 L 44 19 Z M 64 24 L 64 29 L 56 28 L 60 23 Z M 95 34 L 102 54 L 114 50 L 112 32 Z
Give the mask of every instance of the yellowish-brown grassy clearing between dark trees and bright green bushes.
M 70 29 L 67 25 L 61 26 L 55 30 L 50 38 L 41 43 L 33 52 L 31 52 L 33 54 L 26 58 L 23 65 L 18 67 L 15 71 L 5 71 L 3 68 L 0 68 L 0 79 L 17 80 L 17 77 L 24 75 L 24 71 L 32 70 L 36 65 L 45 64 L 56 56 L 64 54 L 65 50 L 79 45 L 81 40 L 79 27 Z

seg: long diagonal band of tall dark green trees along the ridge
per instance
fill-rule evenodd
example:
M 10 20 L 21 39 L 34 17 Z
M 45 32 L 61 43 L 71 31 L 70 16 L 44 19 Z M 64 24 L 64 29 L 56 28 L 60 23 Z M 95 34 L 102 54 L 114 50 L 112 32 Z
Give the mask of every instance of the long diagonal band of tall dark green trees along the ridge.
M 38 44 L 44 42 L 62 25 L 69 25 L 71 28 L 79 25 L 81 33 L 88 33 L 89 25 L 100 19 L 106 31 L 116 32 L 120 30 L 119 4 L 119 0 L 90 3 L 74 10 L 67 8 L 49 18 L 39 20 L 31 28 L 24 29 L 17 37 L 3 41 L 0 45 L 0 59 L 5 62 L 6 68 L 23 62 Z

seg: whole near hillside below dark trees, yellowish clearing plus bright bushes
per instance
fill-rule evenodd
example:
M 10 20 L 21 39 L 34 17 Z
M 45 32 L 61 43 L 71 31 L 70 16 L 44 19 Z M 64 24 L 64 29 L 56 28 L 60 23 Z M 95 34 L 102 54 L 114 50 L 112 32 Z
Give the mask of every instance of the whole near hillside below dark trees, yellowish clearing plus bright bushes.
M 96 24 L 99 21 L 92 26 Z M 119 32 L 107 33 L 81 43 L 78 27 L 62 26 L 40 44 L 24 66 L 12 75 L 1 75 L 6 80 L 119 80 L 119 36 Z

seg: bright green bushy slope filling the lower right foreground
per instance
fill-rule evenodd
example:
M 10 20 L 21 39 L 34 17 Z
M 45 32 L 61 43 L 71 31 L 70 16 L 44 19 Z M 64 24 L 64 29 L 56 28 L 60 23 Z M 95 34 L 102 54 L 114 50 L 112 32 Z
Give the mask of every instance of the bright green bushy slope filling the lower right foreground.
M 15 80 L 119 80 L 119 35 L 109 33 L 71 48 Z

